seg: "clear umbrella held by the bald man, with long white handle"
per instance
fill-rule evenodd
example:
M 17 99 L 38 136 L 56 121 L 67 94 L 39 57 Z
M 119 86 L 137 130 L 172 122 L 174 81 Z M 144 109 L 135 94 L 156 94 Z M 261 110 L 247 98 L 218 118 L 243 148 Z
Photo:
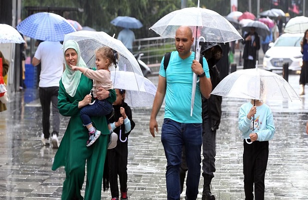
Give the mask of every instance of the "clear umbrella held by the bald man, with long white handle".
M 243 39 L 235 27 L 219 13 L 199 7 L 186 7 L 183 9 L 175 10 L 159 19 L 150 29 L 157 32 L 160 36 L 175 37 L 177 28 L 181 25 L 189 26 L 193 35 L 197 38 L 203 35 L 204 41 L 209 42 L 229 42 L 237 39 Z M 196 43 L 196 51 L 199 45 Z M 195 59 L 199 60 L 195 53 Z M 191 115 L 194 104 L 195 87 L 197 75 L 193 74 L 192 85 L 192 100 L 191 100 Z

